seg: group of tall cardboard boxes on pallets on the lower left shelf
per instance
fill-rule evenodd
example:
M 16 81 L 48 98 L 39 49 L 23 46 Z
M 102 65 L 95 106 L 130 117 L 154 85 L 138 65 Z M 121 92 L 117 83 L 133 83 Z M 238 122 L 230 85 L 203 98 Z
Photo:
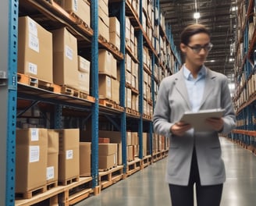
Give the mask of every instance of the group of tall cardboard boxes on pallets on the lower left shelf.
M 84 174 L 80 173 L 80 155 L 84 162 L 91 162 L 91 155 L 80 154 L 79 138 L 78 129 L 16 130 L 16 194 L 30 198 L 33 191 L 42 193 L 78 181 Z

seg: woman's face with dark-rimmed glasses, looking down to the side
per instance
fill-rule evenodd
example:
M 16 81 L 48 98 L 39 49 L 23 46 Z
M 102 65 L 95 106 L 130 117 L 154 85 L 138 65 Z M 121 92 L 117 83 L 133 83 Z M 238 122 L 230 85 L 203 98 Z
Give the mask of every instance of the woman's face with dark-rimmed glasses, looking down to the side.
M 199 33 L 190 37 L 189 43 L 180 44 L 181 51 L 186 55 L 186 65 L 201 67 L 211 50 L 210 37 L 208 34 Z

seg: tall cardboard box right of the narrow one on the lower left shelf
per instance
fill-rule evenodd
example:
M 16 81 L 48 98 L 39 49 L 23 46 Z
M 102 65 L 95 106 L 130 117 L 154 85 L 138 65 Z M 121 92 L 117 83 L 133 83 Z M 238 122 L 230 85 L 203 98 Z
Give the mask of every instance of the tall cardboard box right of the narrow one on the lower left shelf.
M 60 129 L 59 182 L 80 176 L 79 129 Z

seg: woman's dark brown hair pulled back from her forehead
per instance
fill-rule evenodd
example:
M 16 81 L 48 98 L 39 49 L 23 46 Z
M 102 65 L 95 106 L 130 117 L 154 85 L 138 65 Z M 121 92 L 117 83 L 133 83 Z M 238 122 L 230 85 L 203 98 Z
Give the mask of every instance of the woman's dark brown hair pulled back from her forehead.
M 208 34 L 210 37 L 210 32 L 202 24 L 191 24 L 187 26 L 180 35 L 180 43 L 187 45 L 190 42 L 190 37 L 199 33 Z

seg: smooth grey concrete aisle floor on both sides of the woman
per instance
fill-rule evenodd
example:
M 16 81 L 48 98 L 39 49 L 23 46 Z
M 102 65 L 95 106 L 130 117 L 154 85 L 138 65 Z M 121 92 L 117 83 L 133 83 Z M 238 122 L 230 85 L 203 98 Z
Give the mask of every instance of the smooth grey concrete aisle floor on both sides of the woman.
M 226 164 L 221 206 L 254 206 L 256 202 L 256 157 L 250 151 L 221 137 Z M 101 190 L 76 206 L 169 206 L 169 188 L 165 183 L 166 158 Z

